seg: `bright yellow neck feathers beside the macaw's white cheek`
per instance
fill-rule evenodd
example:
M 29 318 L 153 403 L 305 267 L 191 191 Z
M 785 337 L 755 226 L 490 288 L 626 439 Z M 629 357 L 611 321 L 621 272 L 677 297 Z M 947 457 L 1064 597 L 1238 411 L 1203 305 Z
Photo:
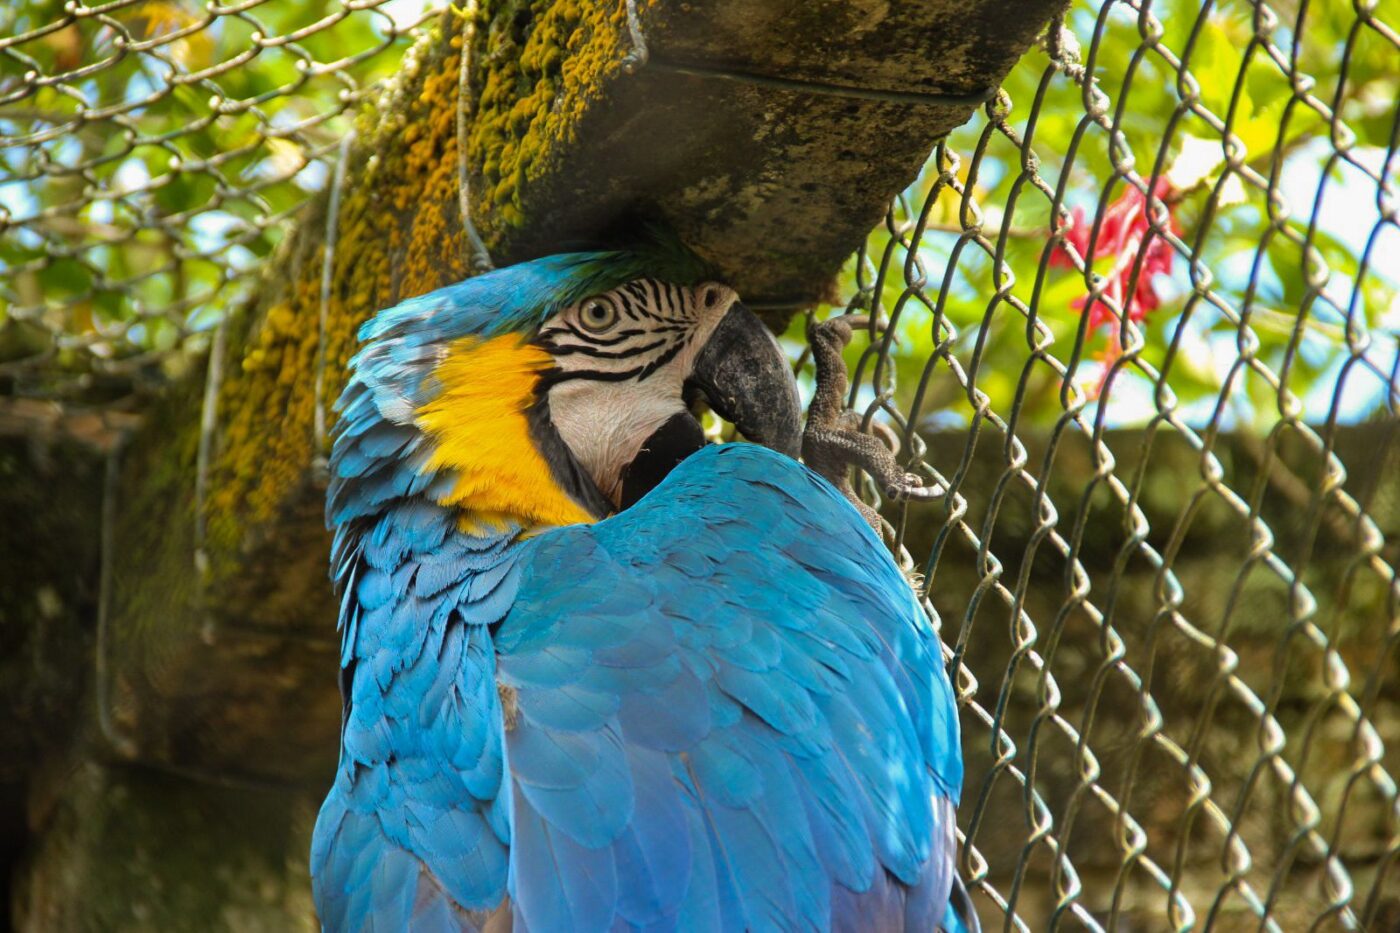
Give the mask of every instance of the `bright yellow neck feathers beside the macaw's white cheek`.
M 455 340 L 434 371 L 442 391 L 419 409 L 419 426 L 437 444 L 428 466 L 456 474 L 441 503 L 461 509 L 465 525 L 594 521 L 554 482 L 531 438 L 526 412 L 549 366 L 545 350 L 510 333 Z

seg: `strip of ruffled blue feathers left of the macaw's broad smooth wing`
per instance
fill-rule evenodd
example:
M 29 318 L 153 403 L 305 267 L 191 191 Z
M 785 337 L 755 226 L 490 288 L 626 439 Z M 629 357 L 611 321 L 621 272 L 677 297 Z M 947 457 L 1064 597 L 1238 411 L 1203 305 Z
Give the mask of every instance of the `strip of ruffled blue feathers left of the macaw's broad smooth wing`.
M 312 848 L 316 904 L 332 930 L 469 930 L 463 911 L 505 890 L 510 832 L 493 807 L 505 769 L 496 653 L 484 626 L 461 621 L 477 608 L 462 565 L 512 563 L 510 542 L 448 537 L 451 513 L 424 502 L 392 518 L 361 520 L 375 524 L 343 552 L 353 677 Z M 458 567 L 433 580 L 442 551 Z

